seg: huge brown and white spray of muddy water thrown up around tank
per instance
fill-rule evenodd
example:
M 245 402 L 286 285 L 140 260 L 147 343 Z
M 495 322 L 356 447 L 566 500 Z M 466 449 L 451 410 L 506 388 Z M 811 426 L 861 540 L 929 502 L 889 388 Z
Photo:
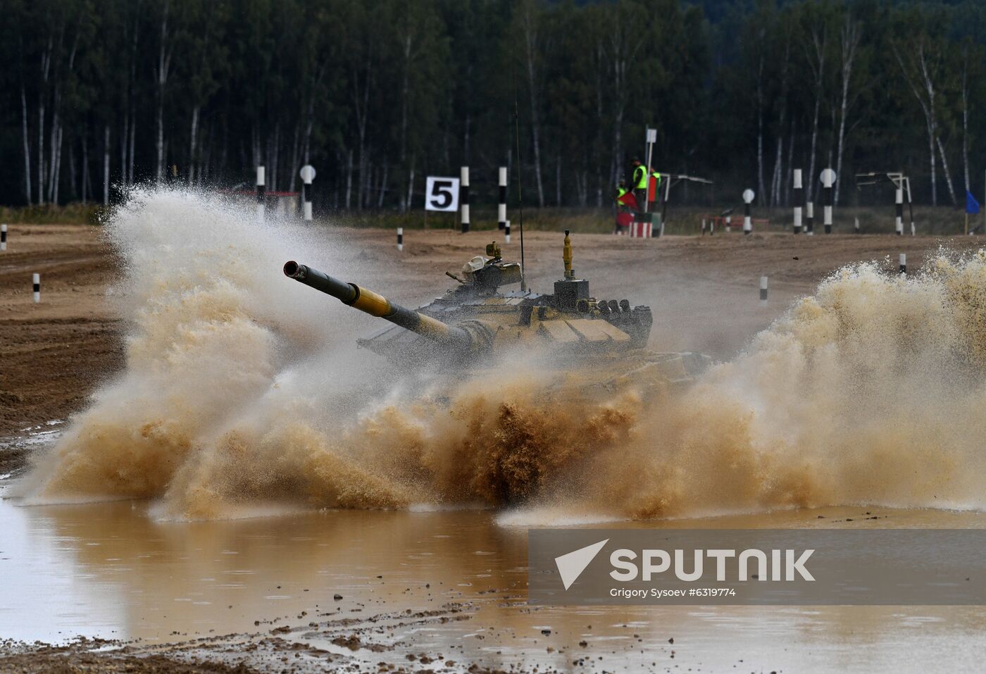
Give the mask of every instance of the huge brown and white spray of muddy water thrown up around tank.
M 571 404 L 528 372 L 463 381 L 448 405 L 394 381 L 353 412 L 372 366 L 347 357 L 334 305 L 280 277 L 305 251 L 335 265 L 342 246 L 315 253 L 301 231 L 252 220 L 174 191 L 118 210 L 126 370 L 38 458 L 30 501 L 147 498 L 191 518 L 518 500 L 640 518 L 983 506 L 982 252 L 906 279 L 842 269 L 673 400 Z M 333 327 L 328 344 L 308 336 Z

